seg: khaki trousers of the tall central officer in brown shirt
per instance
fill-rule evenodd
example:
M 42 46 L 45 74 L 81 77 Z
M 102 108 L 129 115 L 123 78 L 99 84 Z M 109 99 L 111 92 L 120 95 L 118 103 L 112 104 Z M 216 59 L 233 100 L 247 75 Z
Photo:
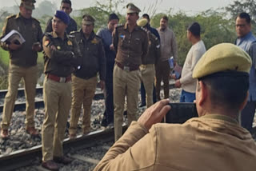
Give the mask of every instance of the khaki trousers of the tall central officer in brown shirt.
M 127 98 L 128 125 L 138 117 L 138 90 L 141 85 L 140 70 L 126 71 L 114 66 L 114 139 L 122 137 L 123 109 Z

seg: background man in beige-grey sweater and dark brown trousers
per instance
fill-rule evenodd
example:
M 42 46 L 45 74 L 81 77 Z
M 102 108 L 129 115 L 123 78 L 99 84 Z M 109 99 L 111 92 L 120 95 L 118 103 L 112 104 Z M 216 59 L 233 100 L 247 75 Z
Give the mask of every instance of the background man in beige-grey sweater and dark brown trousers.
M 160 27 L 157 29 L 160 34 L 161 57 L 156 64 L 156 94 L 157 100 L 161 100 L 160 89 L 163 82 L 164 97 L 169 98 L 169 59 L 174 57 L 174 65 L 178 58 L 178 47 L 174 32 L 168 28 L 168 18 L 163 16 L 160 20 Z

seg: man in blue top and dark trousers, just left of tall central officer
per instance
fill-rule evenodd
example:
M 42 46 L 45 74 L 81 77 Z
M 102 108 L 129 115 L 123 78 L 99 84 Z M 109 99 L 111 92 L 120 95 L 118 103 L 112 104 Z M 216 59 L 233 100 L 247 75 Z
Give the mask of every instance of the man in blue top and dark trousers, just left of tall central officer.
M 113 101 L 113 70 L 115 51 L 112 43 L 112 33 L 114 27 L 118 25 L 119 18 L 116 14 L 110 14 L 107 28 L 98 30 L 97 35 L 102 38 L 106 54 L 106 89 L 105 89 L 105 112 L 102 119 L 102 126 L 107 126 L 114 122 L 114 101 Z

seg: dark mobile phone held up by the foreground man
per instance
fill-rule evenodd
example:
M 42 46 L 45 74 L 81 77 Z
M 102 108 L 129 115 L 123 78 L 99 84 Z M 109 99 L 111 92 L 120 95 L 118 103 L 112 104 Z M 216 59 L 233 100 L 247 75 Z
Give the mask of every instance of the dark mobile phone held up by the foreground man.
M 198 117 L 198 111 L 194 103 L 170 103 L 171 109 L 164 117 L 166 123 L 182 124 L 192 117 Z

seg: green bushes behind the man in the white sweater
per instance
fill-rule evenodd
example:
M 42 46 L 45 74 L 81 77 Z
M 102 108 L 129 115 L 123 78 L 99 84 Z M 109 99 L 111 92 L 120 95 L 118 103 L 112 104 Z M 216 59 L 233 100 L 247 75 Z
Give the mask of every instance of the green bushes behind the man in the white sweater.
M 164 14 L 156 14 L 151 19 L 151 25 L 158 27 L 160 19 Z M 178 44 L 178 64 L 183 65 L 186 54 L 192 46 L 186 38 L 187 27 L 192 22 L 198 22 L 201 26 L 201 37 L 206 45 L 206 49 L 222 42 L 234 42 L 236 38 L 234 22 L 225 18 L 224 13 L 214 10 L 206 10 L 194 16 L 188 16 L 182 11 L 171 14 L 171 10 L 166 14 L 169 18 L 169 27 L 174 31 Z

